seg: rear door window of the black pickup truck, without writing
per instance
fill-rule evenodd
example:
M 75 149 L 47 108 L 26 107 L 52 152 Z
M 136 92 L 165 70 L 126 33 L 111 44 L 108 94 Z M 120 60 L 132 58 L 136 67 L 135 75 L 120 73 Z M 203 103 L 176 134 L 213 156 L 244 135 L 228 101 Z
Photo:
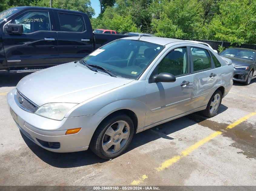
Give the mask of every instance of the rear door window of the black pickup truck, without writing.
M 66 32 L 84 32 L 85 22 L 81 15 L 58 13 L 61 31 Z

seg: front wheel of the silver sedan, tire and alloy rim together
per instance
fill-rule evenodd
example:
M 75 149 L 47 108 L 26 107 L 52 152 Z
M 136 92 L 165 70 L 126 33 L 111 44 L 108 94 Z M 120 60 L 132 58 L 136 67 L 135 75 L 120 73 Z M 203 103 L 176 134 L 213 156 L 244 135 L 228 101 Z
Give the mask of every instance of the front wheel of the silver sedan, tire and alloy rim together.
M 125 151 L 133 134 L 134 126 L 131 118 L 123 113 L 113 114 L 97 127 L 89 147 L 100 158 L 112 159 Z

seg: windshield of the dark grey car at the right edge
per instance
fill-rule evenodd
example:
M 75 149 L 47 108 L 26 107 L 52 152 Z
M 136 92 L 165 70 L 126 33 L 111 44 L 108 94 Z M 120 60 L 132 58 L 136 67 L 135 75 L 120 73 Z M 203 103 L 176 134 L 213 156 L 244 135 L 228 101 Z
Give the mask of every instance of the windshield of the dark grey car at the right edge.
M 222 53 L 220 53 L 220 56 L 231 56 L 236 58 L 244 58 L 252 60 L 254 56 L 254 51 L 251 50 L 244 50 L 244 49 L 226 49 Z

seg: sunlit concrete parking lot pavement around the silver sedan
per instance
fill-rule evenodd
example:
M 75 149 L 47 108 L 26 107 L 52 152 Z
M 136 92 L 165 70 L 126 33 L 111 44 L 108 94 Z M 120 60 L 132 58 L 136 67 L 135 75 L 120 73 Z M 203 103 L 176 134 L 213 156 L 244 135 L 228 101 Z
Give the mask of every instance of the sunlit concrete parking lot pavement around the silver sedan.
M 124 154 L 103 160 L 47 151 L 19 131 L 6 93 L 25 75 L 0 74 L 2 186 L 256 186 L 256 79 L 234 82 L 217 116 L 193 113 L 140 132 Z

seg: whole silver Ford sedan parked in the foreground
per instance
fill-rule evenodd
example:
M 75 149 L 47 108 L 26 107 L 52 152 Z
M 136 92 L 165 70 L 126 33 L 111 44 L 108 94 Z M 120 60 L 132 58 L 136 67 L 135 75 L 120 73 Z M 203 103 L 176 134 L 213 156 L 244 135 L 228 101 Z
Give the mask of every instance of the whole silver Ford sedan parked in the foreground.
M 196 111 L 215 116 L 233 70 L 198 43 L 126 37 L 79 62 L 26 76 L 7 101 L 20 131 L 42 148 L 90 147 L 108 159 L 125 151 L 135 133 Z

